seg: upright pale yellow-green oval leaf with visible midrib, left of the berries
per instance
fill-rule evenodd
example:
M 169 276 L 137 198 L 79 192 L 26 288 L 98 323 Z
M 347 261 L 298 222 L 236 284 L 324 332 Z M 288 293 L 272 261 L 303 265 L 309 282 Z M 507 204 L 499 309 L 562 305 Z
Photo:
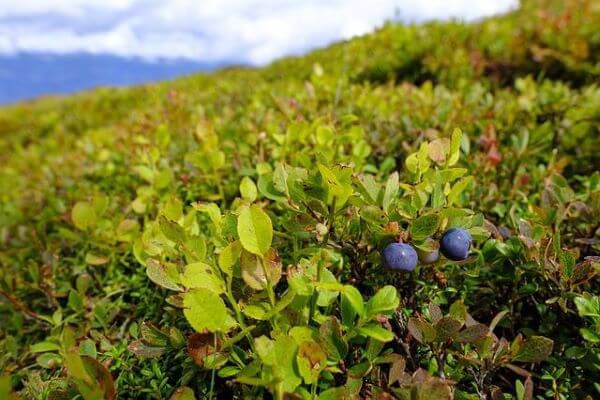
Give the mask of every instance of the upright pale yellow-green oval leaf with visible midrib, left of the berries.
M 258 206 L 243 207 L 238 217 L 237 231 L 244 249 L 263 256 L 271 247 L 273 226 L 269 216 Z

